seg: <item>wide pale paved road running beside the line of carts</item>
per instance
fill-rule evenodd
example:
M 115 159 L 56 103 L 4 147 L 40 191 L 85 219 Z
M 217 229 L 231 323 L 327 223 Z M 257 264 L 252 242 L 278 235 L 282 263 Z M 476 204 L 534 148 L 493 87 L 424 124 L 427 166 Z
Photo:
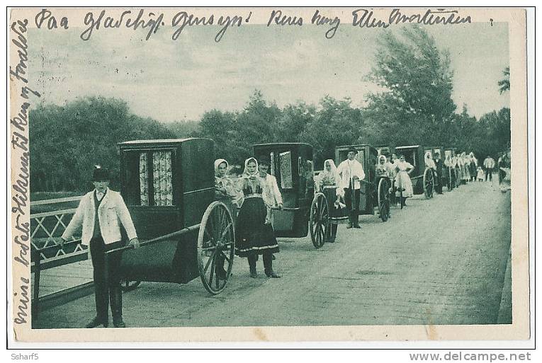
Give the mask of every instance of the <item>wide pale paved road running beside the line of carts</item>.
M 124 296 L 131 327 L 232 325 L 411 325 L 511 323 L 509 192 L 470 183 L 414 197 L 383 223 L 339 227 L 337 243 L 315 250 L 309 238 L 281 239 L 275 270 L 249 278 L 237 259 L 225 292 L 199 280 L 143 282 Z M 505 273 L 506 272 L 506 273 Z M 507 278 L 505 279 L 507 275 Z M 504 286 L 504 289 L 503 289 Z M 94 296 L 43 311 L 36 328 L 79 328 Z

